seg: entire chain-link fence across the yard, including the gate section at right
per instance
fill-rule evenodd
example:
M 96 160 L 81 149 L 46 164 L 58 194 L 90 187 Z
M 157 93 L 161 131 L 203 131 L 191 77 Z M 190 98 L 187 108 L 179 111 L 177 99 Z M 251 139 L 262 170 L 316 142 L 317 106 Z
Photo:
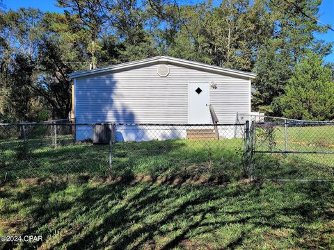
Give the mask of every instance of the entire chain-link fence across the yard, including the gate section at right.
M 0 166 L 0 181 L 80 174 L 334 181 L 334 123 L 245 116 L 215 125 L 2 124 Z

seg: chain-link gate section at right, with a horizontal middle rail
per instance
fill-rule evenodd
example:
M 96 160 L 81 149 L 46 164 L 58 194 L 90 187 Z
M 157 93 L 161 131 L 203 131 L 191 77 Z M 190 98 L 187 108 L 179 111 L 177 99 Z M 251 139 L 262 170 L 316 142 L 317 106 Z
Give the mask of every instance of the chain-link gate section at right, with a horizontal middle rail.
M 255 178 L 334 181 L 334 122 L 249 119 Z

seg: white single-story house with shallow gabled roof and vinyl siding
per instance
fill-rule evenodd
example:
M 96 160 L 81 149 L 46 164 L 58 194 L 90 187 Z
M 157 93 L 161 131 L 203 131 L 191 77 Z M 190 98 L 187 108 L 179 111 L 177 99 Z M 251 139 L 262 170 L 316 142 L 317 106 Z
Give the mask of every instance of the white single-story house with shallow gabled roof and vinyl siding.
M 74 79 L 75 122 L 212 124 L 211 105 L 218 124 L 233 124 L 237 112 L 250 113 L 250 81 L 255 76 L 250 72 L 168 56 L 74 72 L 70 77 Z M 127 129 L 127 132 L 117 133 L 116 127 L 117 140 L 186 135 L 164 131 L 164 136 L 157 133 L 153 137 L 138 136 L 141 127 L 132 128 L 131 132 Z M 77 133 L 77 140 L 91 137 L 89 129 L 85 135 L 81 134 Z

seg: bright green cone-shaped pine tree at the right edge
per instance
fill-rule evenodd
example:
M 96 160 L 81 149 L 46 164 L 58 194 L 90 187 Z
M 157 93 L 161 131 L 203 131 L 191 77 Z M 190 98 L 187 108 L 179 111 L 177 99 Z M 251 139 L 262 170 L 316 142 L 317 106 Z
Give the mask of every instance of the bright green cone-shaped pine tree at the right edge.
M 334 81 L 331 69 L 308 52 L 296 66 L 280 99 L 283 115 L 294 119 L 334 118 Z

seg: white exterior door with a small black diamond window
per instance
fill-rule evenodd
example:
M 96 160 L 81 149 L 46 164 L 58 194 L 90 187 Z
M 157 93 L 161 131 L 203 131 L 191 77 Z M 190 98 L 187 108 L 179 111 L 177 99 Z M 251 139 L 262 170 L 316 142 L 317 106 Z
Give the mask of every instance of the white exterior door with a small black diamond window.
M 188 83 L 188 123 L 209 124 L 209 83 Z

